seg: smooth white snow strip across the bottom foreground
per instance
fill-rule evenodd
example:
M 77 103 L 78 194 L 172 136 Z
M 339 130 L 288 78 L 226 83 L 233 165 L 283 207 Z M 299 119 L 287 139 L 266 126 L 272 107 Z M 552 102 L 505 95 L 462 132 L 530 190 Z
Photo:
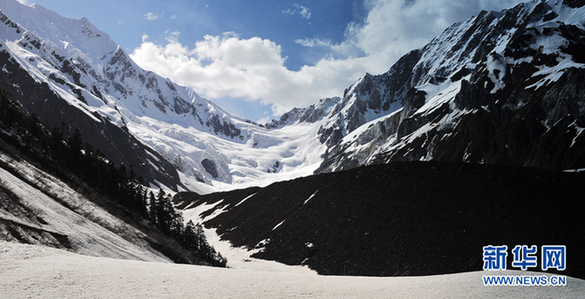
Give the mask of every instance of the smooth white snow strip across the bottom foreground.
M 520 271 L 506 274 L 526 274 Z M 0 242 L 2 298 L 577 298 L 562 287 L 487 287 L 485 272 L 338 277 L 118 260 Z

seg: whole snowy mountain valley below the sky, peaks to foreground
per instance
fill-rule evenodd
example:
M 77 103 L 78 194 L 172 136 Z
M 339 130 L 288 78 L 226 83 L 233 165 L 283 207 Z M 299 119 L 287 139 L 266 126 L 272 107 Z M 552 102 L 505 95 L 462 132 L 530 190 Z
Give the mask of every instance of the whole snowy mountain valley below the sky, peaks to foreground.
M 583 1 L 482 11 L 258 124 L 140 68 L 86 18 L 0 0 L 1 293 L 580 296 L 584 53 Z M 144 183 L 143 214 L 55 166 L 74 137 L 79 159 L 128 174 L 116 188 Z M 180 234 L 157 227 L 158 190 Z M 229 269 L 172 264 L 208 264 L 178 240 L 190 220 Z M 567 245 L 568 285 L 484 287 L 481 246 L 513 242 Z M 501 273 L 552 275 L 517 272 Z

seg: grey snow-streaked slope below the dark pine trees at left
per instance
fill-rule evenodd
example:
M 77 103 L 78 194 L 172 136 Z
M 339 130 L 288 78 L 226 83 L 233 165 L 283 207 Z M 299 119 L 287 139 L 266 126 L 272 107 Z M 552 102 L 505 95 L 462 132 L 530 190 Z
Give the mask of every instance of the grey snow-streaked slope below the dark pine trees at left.
M 0 239 L 90 256 L 170 262 L 144 233 L 59 179 L 3 153 L 0 165 Z

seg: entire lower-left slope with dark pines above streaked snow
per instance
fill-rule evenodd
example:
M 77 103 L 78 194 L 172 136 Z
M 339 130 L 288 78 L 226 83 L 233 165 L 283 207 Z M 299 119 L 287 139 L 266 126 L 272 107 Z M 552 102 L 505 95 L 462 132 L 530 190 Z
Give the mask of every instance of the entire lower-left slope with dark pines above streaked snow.
M 0 240 L 95 256 L 219 264 L 207 243 L 198 243 L 205 251 L 186 242 L 196 232 L 178 231 L 181 215 L 168 210 L 164 194 L 154 199 L 139 184 L 132 170 L 84 147 L 79 134 L 64 139 L 48 130 L 0 87 Z M 145 206 L 165 201 L 165 208 Z M 161 219 L 176 219 L 179 226 L 169 229 Z

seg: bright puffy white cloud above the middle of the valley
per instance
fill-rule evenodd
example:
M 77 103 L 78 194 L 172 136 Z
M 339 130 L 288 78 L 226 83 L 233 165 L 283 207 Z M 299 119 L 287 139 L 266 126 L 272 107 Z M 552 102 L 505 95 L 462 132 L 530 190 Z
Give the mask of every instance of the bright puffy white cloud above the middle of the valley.
M 338 86 L 329 82 L 332 78 L 342 77 L 338 73 L 351 73 L 355 78 L 362 71 L 351 72 L 327 60 L 290 71 L 284 66 L 286 57 L 282 57 L 279 45 L 259 37 L 240 39 L 234 33 L 207 35 L 192 49 L 179 43 L 178 34 L 167 42 L 158 45 L 144 36 L 131 57 L 141 67 L 191 86 L 204 97 L 259 99 L 274 104 L 277 114 L 338 94 Z

